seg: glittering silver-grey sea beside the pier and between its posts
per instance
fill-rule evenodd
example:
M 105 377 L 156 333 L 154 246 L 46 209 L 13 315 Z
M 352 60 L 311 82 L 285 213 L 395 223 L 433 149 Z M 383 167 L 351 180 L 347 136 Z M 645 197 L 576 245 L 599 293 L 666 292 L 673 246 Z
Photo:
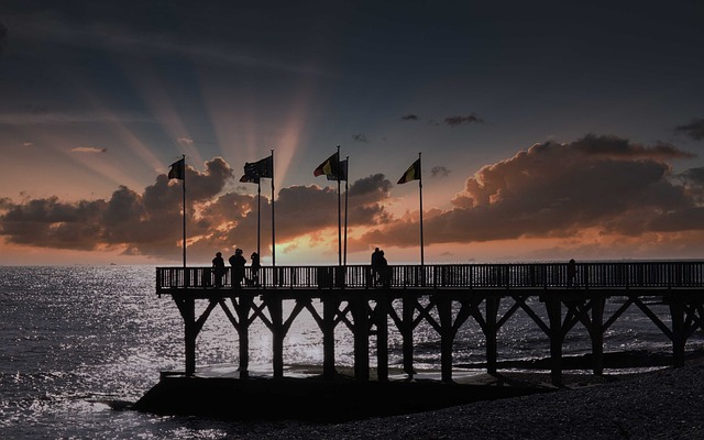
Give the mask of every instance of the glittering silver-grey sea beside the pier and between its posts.
M 286 424 L 224 422 L 196 417 L 158 417 L 121 408 L 158 382 L 161 371 L 183 371 L 183 321 L 168 296 L 155 294 L 153 266 L 0 267 L 0 432 L 7 439 L 220 439 L 275 430 Z M 541 310 L 539 304 L 532 304 Z M 318 305 L 319 306 L 319 305 Z M 608 302 L 608 310 L 619 304 Z M 504 310 L 508 305 L 504 305 Z M 666 306 L 652 306 L 667 321 Z M 286 314 L 286 311 L 285 311 Z M 285 315 L 287 316 L 287 315 Z M 336 360 L 353 365 L 351 333 L 339 326 Z M 696 332 L 688 350 L 704 341 Z M 250 366 L 271 371 L 268 331 L 252 326 Z M 440 343 L 430 326 L 415 334 L 419 371 L 440 367 Z M 322 338 L 301 314 L 285 340 L 287 365 L 322 365 Z M 374 343 L 371 364 L 375 364 Z M 484 337 L 468 321 L 454 344 L 455 364 L 484 360 Z M 605 351 L 669 352 L 662 332 L 630 308 L 605 336 Z M 402 365 L 402 340 L 389 334 L 391 366 Z M 591 351 L 576 326 L 564 354 Z M 549 355 L 547 337 L 524 312 L 498 336 L 501 360 Z M 237 365 L 237 332 L 216 309 L 197 341 L 198 365 Z M 481 371 L 476 371 L 481 373 Z M 608 372 L 607 372 L 608 373 Z M 586 373 L 585 373 L 586 374 Z

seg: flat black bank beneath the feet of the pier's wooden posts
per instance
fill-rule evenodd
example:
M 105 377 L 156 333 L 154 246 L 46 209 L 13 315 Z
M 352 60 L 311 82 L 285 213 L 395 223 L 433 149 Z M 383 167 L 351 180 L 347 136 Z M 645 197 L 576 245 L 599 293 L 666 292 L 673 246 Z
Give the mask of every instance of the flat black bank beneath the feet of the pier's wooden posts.
M 319 367 L 305 365 L 289 366 L 287 373 L 293 376 L 274 378 L 261 374 L 242 380 L 231 369 L 213 367 L 211 376 L 164 373 L 130 409 L 238 421 L 354 422 L 618 384 L 672 370 L 662 365 L 671 356 L 666 353 L 645 351 L 607 353 L 605 365 L 610 365 L 610 371 L 594 375 L 584 371 L 590 365 L 588 355 L 571 356 L 564 364 L 575 370 L 565 369 L 559 386 L 551 383 L 550 371 L 542 370 L 549 360 L 505 361 L 504 369 L 496 374 L 457 369 L 452 383 L 441 382 L 435 371 L 419 372 L 413 377 L 395 371 L 400 374 L 391 375 L 388 382 L 358 382 L 349 367 L 340 367 L 333 381 L 323 380 Z M 688 353 L 686 362 L 704 364 L 704 352 Z M 510 370 L 507 365 L 520 369 Z M 635 365 L 651 370 L 632 371 Z M 615 372 L 614 366 L 628 370 Z

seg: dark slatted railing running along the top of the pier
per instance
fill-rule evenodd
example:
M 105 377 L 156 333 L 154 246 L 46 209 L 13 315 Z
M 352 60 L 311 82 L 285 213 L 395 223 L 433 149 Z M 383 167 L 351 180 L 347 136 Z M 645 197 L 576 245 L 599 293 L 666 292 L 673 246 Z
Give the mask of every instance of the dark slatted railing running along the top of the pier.
M 157 293 L 188 288 L 232 288 L 227 268 L 220 280 L 210 267 L 157 267 Z M 704 262 L 579 263 L 570 279 L 566 263 L 245 267 L 243 288 L 696 288 L 704 287 Z

